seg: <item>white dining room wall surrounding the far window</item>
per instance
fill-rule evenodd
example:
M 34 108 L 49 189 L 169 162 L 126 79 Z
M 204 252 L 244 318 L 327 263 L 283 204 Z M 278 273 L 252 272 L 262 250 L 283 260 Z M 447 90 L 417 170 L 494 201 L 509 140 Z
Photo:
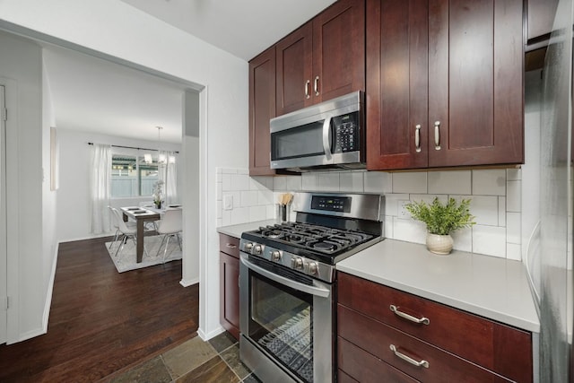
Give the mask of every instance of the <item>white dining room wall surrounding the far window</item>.
M 57 135 L 60 150 L 60 187 L 57 191 L 58 242 L 112 234 L 91 234 L 90 156 L 92 146 L 88 143 L 150 149 L 158 149 L 158 143 L 111 135 L 96 135 L 69 129 L 57 129 Z M 181 152 L 181 145 L 164 143 L 161 144 L 161 149 Z M 178 160 L 181 160 L 181 157 L 178 156 Z M 183 177 L 184 171 L 183 163 L 178 163 L 178 179 Z M 150 201 L 151 199 L 151 196 L 111 198 L 109 205 L 114 207 L 138 205 L 140 201 Z

